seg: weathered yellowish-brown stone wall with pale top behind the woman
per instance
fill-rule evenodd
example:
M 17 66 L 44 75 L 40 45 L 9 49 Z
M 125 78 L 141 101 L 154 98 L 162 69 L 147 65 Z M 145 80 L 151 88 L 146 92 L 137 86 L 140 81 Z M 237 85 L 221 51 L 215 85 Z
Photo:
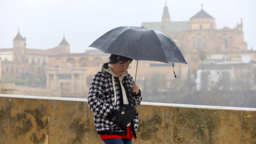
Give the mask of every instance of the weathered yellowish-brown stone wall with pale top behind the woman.
M 256 143 L 256 109 L 143 102 L 134 143 Z M 1 144 L 103 142 L 86 99 L 0 95 Z

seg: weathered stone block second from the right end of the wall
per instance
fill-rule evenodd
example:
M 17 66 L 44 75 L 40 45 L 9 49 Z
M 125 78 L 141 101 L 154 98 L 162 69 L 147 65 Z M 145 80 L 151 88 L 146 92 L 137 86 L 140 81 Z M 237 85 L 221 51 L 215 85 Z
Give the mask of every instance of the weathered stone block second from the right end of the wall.
M 174 143 L 220 143 L 220 110 L 175 107 Z

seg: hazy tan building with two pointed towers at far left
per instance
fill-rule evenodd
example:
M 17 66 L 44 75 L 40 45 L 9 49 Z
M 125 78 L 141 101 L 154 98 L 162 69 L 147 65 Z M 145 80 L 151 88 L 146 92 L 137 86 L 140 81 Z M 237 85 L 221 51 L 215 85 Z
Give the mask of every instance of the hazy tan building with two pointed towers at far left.
M 48 66 L 49 56 L 70 53 L 70 45 L 63 37 L 61 43 L 51 49 L 31 49 L 26 47 L 26 38 L 17 33 L 13 48 L 0 49 L 2 77 L 21 75 L 42 76 Z

